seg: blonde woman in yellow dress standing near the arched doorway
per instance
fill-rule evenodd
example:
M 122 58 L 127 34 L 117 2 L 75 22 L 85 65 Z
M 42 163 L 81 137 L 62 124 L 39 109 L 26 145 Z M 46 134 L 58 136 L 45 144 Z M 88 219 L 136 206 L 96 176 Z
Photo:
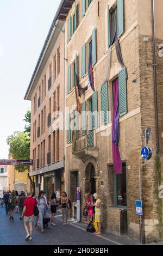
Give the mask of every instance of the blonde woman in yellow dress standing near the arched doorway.
M 101 200 L 97 193 L 93 194 L 93 197 L 96 199 L 96 203 L 92 204 L 95 206 L 95 222 L 97 222 L 98 230 L 94 233 L 95 235 L 101 235 Z

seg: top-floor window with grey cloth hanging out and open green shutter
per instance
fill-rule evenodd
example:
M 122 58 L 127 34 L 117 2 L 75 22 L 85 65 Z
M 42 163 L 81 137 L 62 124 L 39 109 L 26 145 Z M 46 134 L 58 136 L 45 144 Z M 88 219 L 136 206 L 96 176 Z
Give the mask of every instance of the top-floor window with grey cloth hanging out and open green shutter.
M 108 47 L 114 44 L 116 34 L 118 38 L 123 34 L 123 23 L 123 0 L 117 0 L 112 8 L 108 6 Z

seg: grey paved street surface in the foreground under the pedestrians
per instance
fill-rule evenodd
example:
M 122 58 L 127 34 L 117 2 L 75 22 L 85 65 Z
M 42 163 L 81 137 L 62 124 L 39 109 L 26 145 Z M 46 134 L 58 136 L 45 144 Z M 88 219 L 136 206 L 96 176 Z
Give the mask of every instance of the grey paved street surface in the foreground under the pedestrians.
M 47 214 L 49 217 L 50 212 Z M 0 245 L 136 245 L 126 236 L 117 236 L 110 233 L 102 233 L 95 236 L 85 231 L 85 225 L 69 220 L 67 226 L 62 225 L 62 216 L 58 212 L 56 227 L 48 228 L 45 233 L 37 231 L 34 227 L 33 241 L 26 241 L 26 233 L 23 222 L 19 220 L 20 215 L 15 214 L 14 221 L 9 221 L 9 216 L 5 214 L 4 208 L 0 207 L 1 231 Z

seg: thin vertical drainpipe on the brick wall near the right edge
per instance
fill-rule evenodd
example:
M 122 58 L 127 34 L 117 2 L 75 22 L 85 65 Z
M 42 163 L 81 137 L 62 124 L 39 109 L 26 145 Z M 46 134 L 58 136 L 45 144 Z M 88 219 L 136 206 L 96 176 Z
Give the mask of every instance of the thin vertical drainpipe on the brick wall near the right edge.
M 155 123 L 156 123 L 156 155 L 159 155 L 159 124 L 158 124 L 158 92 L 157 92 L 157 77 L 156 77 L 156 41 L 155 41 L 155 5 L 154 0 L 151 0 L 152 5 L 152 38 L 153 38 L 153 69 L 154 69 L 154 99 L 155 99 Z

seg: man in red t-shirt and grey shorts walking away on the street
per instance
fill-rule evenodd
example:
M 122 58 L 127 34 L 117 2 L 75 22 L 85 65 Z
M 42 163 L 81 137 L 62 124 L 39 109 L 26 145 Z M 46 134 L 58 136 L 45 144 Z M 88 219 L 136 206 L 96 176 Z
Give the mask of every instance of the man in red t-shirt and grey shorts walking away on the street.
M 24 208 L 23 208 L 22 218 L 24 223 L 24 229 L 27 232 L 26 240 L 28 239 L 32 240 L 35 199 L 32 198 L 31 191 L 28 192 L 27 195 L 28 197 L 24 199 Z M 28 223 L 29 223 L 29 229 L 27 225 Z

